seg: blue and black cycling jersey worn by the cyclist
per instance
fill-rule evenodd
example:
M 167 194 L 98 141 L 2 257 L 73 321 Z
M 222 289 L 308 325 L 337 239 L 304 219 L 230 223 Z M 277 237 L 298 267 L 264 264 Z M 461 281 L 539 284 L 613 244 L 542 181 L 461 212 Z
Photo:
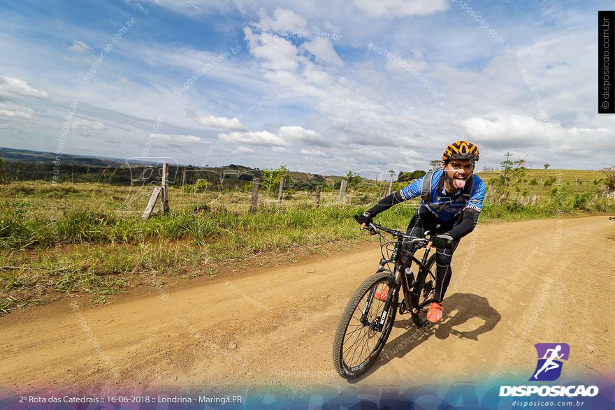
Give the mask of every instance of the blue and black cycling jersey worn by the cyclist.
M 472 183 L 470 178 L 468 178 L 464 189 L 451 194 L 444 189 L 443 174 L 443 170 L 436 170 L 432 174 L 431 196 L 427 202 L 424 200 L 421 201 L 421 204 L 425 205 L 430 212 L 443 221 L 448 221 L 456 217 L 459 212 L 464 209 L 473 210 L 475 212 L 480 212 L 482 210 L 483 200 L 485 199 L 485 183 L 478 175 L 470 175 L 470 178 L 474 178 L 474 182 Z M 424 177 L 421 177 L 419 180 L 400 189 L 400 199 L 404 201 L 421 196 L 423 179 Z

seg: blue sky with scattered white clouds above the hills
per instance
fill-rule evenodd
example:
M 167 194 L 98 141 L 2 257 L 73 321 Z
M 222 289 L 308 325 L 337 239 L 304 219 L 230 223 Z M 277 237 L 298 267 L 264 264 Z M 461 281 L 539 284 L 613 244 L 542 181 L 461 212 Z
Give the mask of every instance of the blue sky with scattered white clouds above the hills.
M 597 114 L 596 22 L 609 8 L 3 1 L 0 146 L 55 152 L 64 138 L 67 156 L 372 176 L 426 169 L 467 139 L 479 169 L 505 152 L 600 169 L 615 161 L 614 117 Z

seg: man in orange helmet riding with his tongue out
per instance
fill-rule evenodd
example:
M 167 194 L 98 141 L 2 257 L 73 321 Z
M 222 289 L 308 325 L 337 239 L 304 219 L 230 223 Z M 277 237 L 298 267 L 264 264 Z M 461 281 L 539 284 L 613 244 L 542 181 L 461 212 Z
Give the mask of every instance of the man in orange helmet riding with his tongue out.
M 442 319 L 442 299 L 451 281 L 451 258 L 459 240 L 474 230 L 485 197 L 485 184 L 474 175 L 475 161 L 479 160 L 476 145 L 468 141 L 453 142 L 444 149 L 442 160 L 442 169 L 430 171 L 400 191 L 382 198 L 357 219 L 363 229 L 379 212 L 410 198 L 423 198 L 410 220 L 407 235 L 422 237 L 424 231 L 433 232 L 440 224 L 440 234 L 432 235 L 427 244 L 427 249 L 436 248 L 436 302 L 431 303 L 427 312 L 427 320 L 431 323 Z M 415 251 L 410 245 L 405 245 L 405 249 L 411 254 Z M 375 297 L 386 300 L 388 292 L 388 289 L 377 292 Z

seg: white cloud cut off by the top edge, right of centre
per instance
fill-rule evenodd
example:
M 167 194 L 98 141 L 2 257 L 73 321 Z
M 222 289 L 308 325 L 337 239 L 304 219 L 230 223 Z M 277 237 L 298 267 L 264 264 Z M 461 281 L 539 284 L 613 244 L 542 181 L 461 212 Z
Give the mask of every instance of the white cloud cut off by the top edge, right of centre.
M 449 8 L 446 0 L 355 0 L 354 4 L 375 17 L 428 15 Z

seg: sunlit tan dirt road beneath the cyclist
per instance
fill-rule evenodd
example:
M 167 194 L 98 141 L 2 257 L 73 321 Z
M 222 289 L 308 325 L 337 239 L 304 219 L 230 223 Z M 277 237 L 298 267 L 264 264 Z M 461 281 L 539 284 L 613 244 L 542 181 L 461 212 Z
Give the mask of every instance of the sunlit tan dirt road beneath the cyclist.
M 574 374 L 613 376 L 615 223 L 607 217 L 479 225 L 456 251 L 443 321 L 421 335 L 409 315 L 398 316 L 381 358 L 349 384 L 333 369 L 333 335 L 378 260 L 377 244 L 366 244 L 101 307 L 64 298 L 10 314 L 0 318 L 0 388 L 361 388 L 412 383 L 417 372 L 421 381 L 527 380 L 538 342 L 570 344 Z

